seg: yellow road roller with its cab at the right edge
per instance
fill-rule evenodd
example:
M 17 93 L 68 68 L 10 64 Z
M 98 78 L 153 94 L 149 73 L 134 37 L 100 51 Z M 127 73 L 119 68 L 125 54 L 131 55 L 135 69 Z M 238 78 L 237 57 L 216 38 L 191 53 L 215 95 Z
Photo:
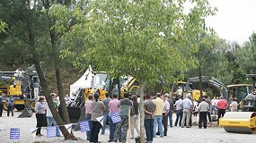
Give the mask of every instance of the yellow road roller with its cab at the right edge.
M 246 78 L 252 78 L 255 88 L 256 74 L 246 74 Z M 256 92 L 252 91 L 244 98 L 243 112 L 226 112 L 219 119 L 219 126 L 227 132 L 256 133 Z

